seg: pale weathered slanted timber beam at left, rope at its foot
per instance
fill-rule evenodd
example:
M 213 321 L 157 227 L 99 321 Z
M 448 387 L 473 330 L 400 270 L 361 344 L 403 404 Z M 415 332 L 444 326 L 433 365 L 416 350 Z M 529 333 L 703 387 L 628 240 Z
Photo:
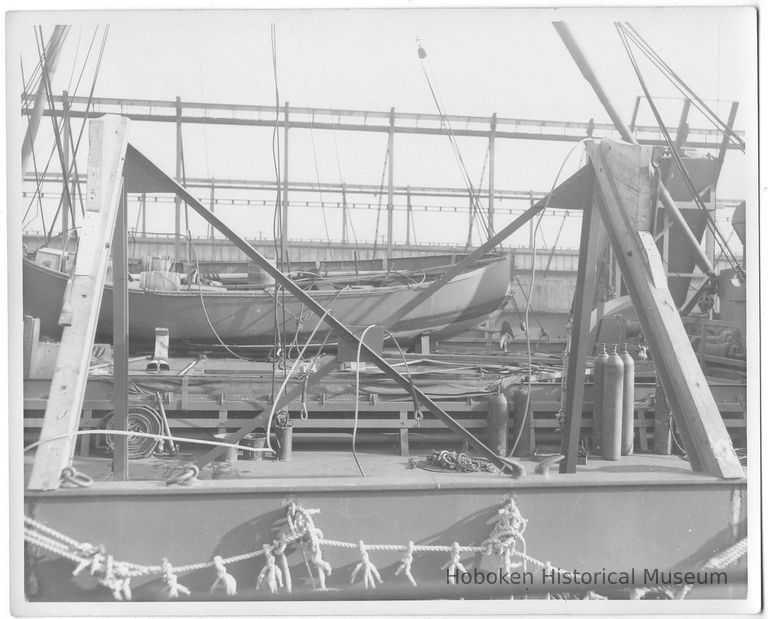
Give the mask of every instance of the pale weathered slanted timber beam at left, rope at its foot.
M 72 278 L 65 292 L 59 358 L 51 381 L 30 490 L 58 488 L 61 471 L 71 461 L 80 421 L 91 347 L 96 334 L 108 248 L 121 196 L 128 119 L 105 116 L 91 121 L 86 212 Z

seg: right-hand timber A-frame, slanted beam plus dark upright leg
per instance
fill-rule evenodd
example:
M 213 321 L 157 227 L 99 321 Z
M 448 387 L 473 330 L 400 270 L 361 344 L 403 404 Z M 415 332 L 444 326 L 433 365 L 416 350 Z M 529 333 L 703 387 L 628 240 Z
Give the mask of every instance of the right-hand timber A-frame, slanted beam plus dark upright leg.
M 722 479 L 743 477 L 744 471 L 731 444 L 707 379 L 696 358 L 680 314 L 667 287 L 661 256 L 651 234 L 651 159 L 648 147 L 603 139 L 587 143 L 594 171 L 594 199 L 622 276 L 629 290 L 643 333 L 650 344 L 666 400 L 688 453 L 691 467 Z M 582 241 L 589 238 L 585 229 Z M 594 278 L 589 263 L 591 247 L 582 247 L 582 260 L 574 299 L 575 334 L 566 376 L 569 387 L 583 377 L 584 333 L 589 318 L 584 309 L 592 302 Z M 582 272 L 581 268 L 585 270 Z M 574 375 L 575 374 L 575 375 Z M 576 376 L 577 375 L 577 376 Z M 583 394 L 583 389 L 581 390 Z M 575 397 L 574 397 L 575 395 Z M 566 433 L 562 472 L 574 472 L 581 421 L 581 394 L 566 394 Z

